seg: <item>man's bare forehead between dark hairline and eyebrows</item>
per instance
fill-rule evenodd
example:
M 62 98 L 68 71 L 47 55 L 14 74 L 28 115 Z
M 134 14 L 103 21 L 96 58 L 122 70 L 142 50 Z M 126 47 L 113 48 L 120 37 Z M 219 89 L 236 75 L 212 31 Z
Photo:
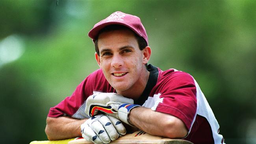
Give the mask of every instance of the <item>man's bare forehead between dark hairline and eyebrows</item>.
M 134 47 L 139 46 L 135 34 L 132 30 L 122 29 L 105 31 L 100 33 L 100 35 L 98 36 L 99 50 L 101 48 L 118 48 L 125 45 L 131 45 Z

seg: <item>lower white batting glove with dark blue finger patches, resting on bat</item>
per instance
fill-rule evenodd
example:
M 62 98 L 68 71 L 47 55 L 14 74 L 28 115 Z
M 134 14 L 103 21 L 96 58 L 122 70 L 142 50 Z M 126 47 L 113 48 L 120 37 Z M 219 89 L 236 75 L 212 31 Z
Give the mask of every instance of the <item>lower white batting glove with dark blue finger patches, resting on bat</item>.
M 108 114 L 98 114 L 81 125 L 82 137 L 95 144 L 108 144 L 126 134 L 126 129 L 117 118 Z

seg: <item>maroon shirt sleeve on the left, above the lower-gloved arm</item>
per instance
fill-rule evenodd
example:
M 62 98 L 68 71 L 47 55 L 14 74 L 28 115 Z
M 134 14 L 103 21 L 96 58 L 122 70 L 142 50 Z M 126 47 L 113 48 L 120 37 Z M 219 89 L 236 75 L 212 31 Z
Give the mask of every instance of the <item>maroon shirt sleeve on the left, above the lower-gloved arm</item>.
M 59 117 L 74 115 L 83 103 L 85 103 L 88 96 L 93 94 L 95 75 L 96 72 L 90 74 L 76 87 L 76 90 L 71 96 L 66 97 L 55 107 L 51 107 L 48 116 Z

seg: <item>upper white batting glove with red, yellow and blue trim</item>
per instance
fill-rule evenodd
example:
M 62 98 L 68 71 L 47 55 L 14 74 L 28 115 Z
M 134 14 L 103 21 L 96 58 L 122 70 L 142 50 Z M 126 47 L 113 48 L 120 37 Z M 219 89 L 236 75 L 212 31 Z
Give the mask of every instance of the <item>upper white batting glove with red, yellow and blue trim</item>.
M 133 105 L 133 103 L 134 101 L 132 99 L 125 98 L 120 94 L 96 93 L 87 98 L 85 113 L 88 114 L 88 116 L 94 116 L 99 111 L 102 111 L 131 125 L 128 120 L 128 114 L 131 109 L 140 106 Z

